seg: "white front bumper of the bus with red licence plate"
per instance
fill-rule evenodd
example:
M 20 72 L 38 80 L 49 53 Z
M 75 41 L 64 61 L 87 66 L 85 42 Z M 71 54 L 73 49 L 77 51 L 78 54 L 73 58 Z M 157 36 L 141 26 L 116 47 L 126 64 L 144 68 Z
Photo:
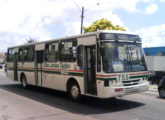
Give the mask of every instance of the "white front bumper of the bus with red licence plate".
M 149 89 L 149 82 L 134 85 L 134 86 L 122 86 L 122 87 L 104 87 L 103 98 L 112 98 L 128 94 L 140 93 Z

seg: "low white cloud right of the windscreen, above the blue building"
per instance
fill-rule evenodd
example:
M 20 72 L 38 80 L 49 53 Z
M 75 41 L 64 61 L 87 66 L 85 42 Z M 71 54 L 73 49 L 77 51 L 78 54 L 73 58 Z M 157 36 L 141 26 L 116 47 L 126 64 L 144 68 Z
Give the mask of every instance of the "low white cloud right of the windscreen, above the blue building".
M 165 24 L 136 31 L 142 37 L 143 47 L 165 46 Z

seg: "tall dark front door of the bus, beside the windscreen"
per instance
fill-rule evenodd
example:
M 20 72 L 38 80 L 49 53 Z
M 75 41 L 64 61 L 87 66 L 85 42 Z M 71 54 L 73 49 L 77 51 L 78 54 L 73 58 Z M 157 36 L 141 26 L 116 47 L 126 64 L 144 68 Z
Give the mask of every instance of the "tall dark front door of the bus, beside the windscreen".
M 86 93 L 97 94 L 96 87 L 96 46 L 84 46 L 84 72 Z

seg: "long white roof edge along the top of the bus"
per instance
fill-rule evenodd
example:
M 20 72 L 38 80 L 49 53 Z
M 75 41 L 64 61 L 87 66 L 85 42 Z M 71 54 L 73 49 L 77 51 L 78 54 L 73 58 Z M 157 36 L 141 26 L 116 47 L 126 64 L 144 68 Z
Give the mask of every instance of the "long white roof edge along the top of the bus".
M 81 37 L 87 37 L 87 36 L 92 36 L 92 35 L 99 35 L 100 33 L 118 33 L 118 34 L 131 34 L 131 35 L 137 35 L 132 32 L 128 31 L 119 31 L 119 30 L 99 30 L 96 32 L 88 32 L 84 34 L 79 34 L 79 35 L 72 35 L 72 36 L 66 36 L 63 38 L 56 38 L 56 39 L 51 39 L 51 40 L 44 40 L 36 43 L 26 43 L 22 45 L 17 45 L 17 46 L 11 46 L 10 48 L 17 48 L 17 47 L 23 47 L 23 46 L 30 46 L 30 45 L 36 45 L 36 44 L 42 44 L 42 43 L 47 43 L 47 42 L 54 42 L 54 41 L 59 41 L 59 40 L 65 40 L 65 39 L 72 39 L 72 38 L 81 38 Z

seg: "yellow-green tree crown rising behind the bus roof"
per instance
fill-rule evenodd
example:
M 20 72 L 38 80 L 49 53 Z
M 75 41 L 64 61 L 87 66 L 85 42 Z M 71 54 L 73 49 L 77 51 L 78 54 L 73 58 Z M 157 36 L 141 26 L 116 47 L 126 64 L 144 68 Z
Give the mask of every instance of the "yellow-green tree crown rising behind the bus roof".
M 89 27 L 83 27 L 83 29 L 84 29 L 84 33 L 94 32 L 97 30 L 121 30 L 121 31 L 125 31 L 125 28 L 123 28 L 119 25 L 115 26 L 111 23 L 111 21 L 104 19 L 104 18 L 94 21 L 92 25 L 90 25 Z

